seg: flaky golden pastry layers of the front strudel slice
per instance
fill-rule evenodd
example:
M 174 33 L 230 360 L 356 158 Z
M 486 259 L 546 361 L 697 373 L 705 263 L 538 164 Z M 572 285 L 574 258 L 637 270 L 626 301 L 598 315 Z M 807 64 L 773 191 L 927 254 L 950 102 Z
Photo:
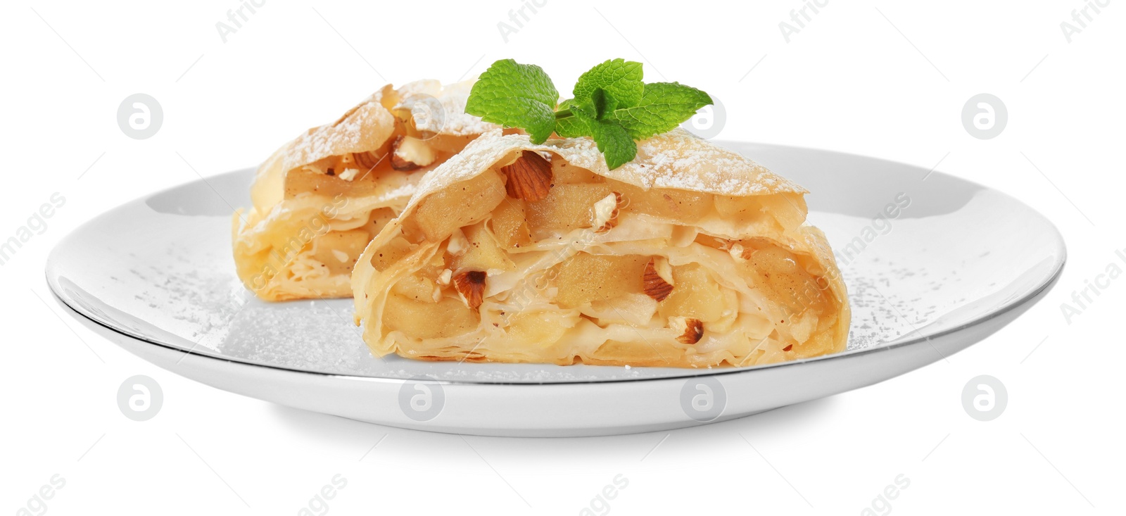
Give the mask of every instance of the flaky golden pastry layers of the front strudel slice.
M 570 233 L 572 237 L 580 234 L 584 240 L 570 247 L 560 247 L 568 249 L 566 251 L 556 251 L 568 252 L 570 256 L 581 252 L 659 256 L 676 267 L 699 265 L 706 272 L 705 276 L 699 277 L 721 285 L 725 292 L 732 293 L 730 295 L 738 295 L 741 306 L 738 315 L 725 314 L 722 320 L 705 322 L 703 331 L 695 326 L 699 321 L 682 317 L 669 318 L 667 324 L 661 322 L 654 326 L 656 319 L 652 319 L 646 324 L 634 327 L 622 322 L 605 323 L 606 320 L 615 319 L 613 313 L 609 319 L 598 319 L 590 317 L 590 310 L 587 310 L 580 317 L 574 317 L 574 311 L 560 309 L 557 305 L 545 306 L 542 304 L 545 299 L 536 296 L 519 304 L 517 310 L 506 313 L 504 306 L 512 305 L 511 297 L 515 294 L 511 292 L 515 292 L 515 287 L 509 292 L 504 291 L 506 286 L 489 283 L 484 292 L 484 304 L 474 308 L 480 310 L 480 322 L 474 327 L 474 321 L 467 320 L 465 328 L 468 330 L 462 335 L 417 338 L 388 326 L 384 321 L 388 303 L 403 303 L 402 292 L 393 294 L 392 290 L 403 291 L 405 283 L 402 282 L 413 273 L 440 265 L 443 253 L 449 246 L 454 246 L 447 235 L 440 235 L 441 240 L 420 235 L 417 228 L 420 204 L 432 196 L 440 198 L 444 192 L 464 189 L 464 185 L 470 185 L 473 180 L 486 180 L 490 175 L 504 180 L 499 170 L 517 160 L 524 151 L 549 155 L 553 160 L 557 157 L 570 166 L 593 172 L 602 178 L 599 179 L 601 181 L 626 185 L 619 188 L 711 194 L 736 203 L 748 198 L 758 203 L 754 206 L 763 206 L 765 214 L 751 214 L 738 221 L 715 216 L 714 213 L 697 221 L 679 223 L 643 216 L 644 223 L 634 220 L 609 231 L 595 231 L 596 228 L 591 228 L 587 232 Z M 501 189 L 504 189 L 503 184 Z M 824 235 L 820 230 L 804 224 L 803 194 L 805 190 L 802 187 L 739 153 L 680 130 L 638 142 L 637 158 L 616 170 L 607 169 L 601 153 L 589 139 L 549 140 L 536 145 L 527 136 L 502 135 L 499 131 L 493 131 L 423 178 L 402 214 L 390 222 L 367 247 L 352 273 L 356 322 L 363 322 L 364 338 L 377 356 L 396 353 L 427 361 L 709 367 L 767 364 L 841 352 L 846 347 L 850 319 L 847 292 Z M 620 199 L 619 193 L 615 192 L 615 195 Z M 614 197 L 606 201 L 613 202 Z M 501 205 L 506 202 L 511 203 L 512 199 L 504 197 Z M 473 224 L 476 221 L 466 222 Z M 619 238 L 615 237 L 619 233 L 642 231 L 641 228 L 646 224 L 652 228 L 669 226 L 668 234 L 671 237 L 665 237 L 665 241 L 660 244 L 644 239 L 632 242 L 614 240 Z M 686 228 L 696 240 L 670 246 L 669 239 L 682 239 L 679 235 L 688 232 Z M 803 274 L 816 278 L 820 293 L 806 293 L 817 299 L 817 317 L 812 318 L 812 323 L 806 322 L 814 311 L 783 309 L 779 295 L 766 286 L 769 278 L 760 282 L 751 277 L 754 273 L 748 273 L 753 268 L 747 268 L 748 259 L 743 257 L 752 256 L 756 251 L 751 248 L 756 246 L 770 248 L 768 255 L 774 252 L 789 257 L 786 259 L 798 263 Z M 513 251 L 526 250 L 521 248 Z M 386 257 L 392 256 L 394 259 L 388 261 Z M 515 256 L 517 255 L 511 255 Z M 377 268 L 373 261 L 381 266 Z M 517 269 L 520 267 L 522 266 L 517 266 Z M 519 275 L 490 270 L 489 281 L 504 283 L 513 274 Z M 525 279 L 527 278 L 517 282 Z M 448 288 L 441 292 L 436 293 L 441 303 L 450 300 L 465 302 L 464 296 L 450 294 Z M 423 296 L 425 294 L 423 292 Z M 786 295 L 793 299 L 803 294 Z M 497 297 L 490 300 L 491 296 Z M 645 302 L 640 297 L 638 301 Z M 590 309 L 590 305 L 587 308 Z M 743 315 L 744 312 L 754 310 L 759 313 Z M 521 326 L 520 318 L 525 315 L 555 318 L 558 331 L 551 332 L 552 323 Z M 787 323 L 786 320 L 790 318 L 793 319 Z M 391 320 L 391 323 L 394 326 L 396 322 Z M 819 323 L 821 327 L 817 327 Z M 534 328 L 535 331 L 528 328 Z M 748 337 L 751 335 L 761 336 L 761 339 L 751 339 Z

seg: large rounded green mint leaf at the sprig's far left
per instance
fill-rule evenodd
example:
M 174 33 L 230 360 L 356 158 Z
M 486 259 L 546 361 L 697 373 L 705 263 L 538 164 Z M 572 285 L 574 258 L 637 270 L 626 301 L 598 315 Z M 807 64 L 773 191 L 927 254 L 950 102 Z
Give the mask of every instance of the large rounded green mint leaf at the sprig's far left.
M 465 113 L 493 124 L 522 128 L 533 143 L 543 143 L 555 131 L 558 98 L 558 90 L 544 69 L 506 59 L 494 62 L 473 84 Z

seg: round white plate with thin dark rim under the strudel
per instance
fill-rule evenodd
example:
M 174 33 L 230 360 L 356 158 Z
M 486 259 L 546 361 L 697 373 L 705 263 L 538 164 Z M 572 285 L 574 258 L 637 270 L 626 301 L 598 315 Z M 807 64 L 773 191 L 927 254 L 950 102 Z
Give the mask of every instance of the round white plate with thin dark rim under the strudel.
M 1052 223 L 997 190 L 873 158 L 725 145 L 812 192 L 810 221 L 852 302 L 847 352 L 713 370 L 374 358 L 350 300 L 267 303 L 239 283 L 231 213 L 249 204 L 251 170 L 91 220 L 54 249 L 47 282 L 100 335 L 231 392 L 405 428 L 575 436 L 725 420 L 897 376 L 1012 321 L 1063 268 Z

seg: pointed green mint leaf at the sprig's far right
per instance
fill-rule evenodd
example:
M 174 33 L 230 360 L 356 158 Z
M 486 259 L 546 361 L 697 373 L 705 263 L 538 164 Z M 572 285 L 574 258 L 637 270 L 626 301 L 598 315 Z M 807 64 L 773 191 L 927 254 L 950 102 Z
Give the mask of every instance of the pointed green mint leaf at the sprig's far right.
M 712 104 L 712 97 L 678 82 L 645 84 L 635 106 L 615 109 L 606 118 L 619 122 L 634 140 L 672 131 L 696 112 Z

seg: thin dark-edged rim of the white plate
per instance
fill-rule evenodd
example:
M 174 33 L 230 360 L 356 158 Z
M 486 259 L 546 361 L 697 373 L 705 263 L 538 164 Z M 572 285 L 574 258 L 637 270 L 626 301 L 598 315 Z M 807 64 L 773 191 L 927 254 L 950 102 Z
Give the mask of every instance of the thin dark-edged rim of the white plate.
M 714 143 L 720 144 L 722 146 L 726 146 L 729 149 L 731 146 L 727 145 L 727 144 L 735 144 L 735 145 L 766 145 L 766 146 L 774 146 L 774 148 L 780 148 L 780 149 L 794 150 L 794 151 L 812 151 L 812 152 L 821 152 L 821 153 L 844 155 L 844 157 L 851 157 L 851 158 L 861 158 L 861 159 L 867 159 L 867 160 L 881 161 L 881 162 L 884 162 L 884 163 L 891 163 L 891 164 L 895 164 L 895 166 L 902 166 L 902 167 L 908 167 L 908 168 L 922 169 L 922 167 L 910 164 L 910 163 L 904 163 L 904 162 L 900 162 L 900 161 L 893 161 L 893 160 L 887 160 L 887 159 L 876 158 L 876 157 L 870 157 L 870 155 L 865 155 L 865 154 L 856 154 L 856 153 L 850 153 L 850 152 L 841 152 L 841 151 L 826 150 L 826 149 L 816 149 L 816 148 L 797 146 L 797 145 L 779 145 L 779 144 L 772 144 L 772 143 L 745 142 L 745 141 L 734 141 L 734 140 L 718 140 L 718 141 L 714 141 Z M 736 152 L 738 152 L 738 150 L 736 150 Z M 236 175 L 236 174 L 245 174 L 247 171 L 252 171 L 252 170 L 253 170 L 253 168 L 242 168 L 242 169 L 236 169 L 236 170 L 231 170 L 231 171 L 217 174 L 217 175 L 215 175 L 213 177 L 229 176 L 229 175 Z M 128 201 L 126 203 L 123 203 L 123 204 L 120 204 L 118 206 L 115 206 L 115 207 L 113 207 L 110 210 L 107 210 L 107 211 L 105 211 L 105 212 L 102 212 L 102 213 L 100 213 L 98 215 L 92 216 L 90 220 L 86 221 L 84 223 L 82 223 L 78 228 L 74 228 L 73 230 L 71 230 L 70 233 L 68 233 L 65 237 L 63 237 L 55 244 L 55 247 L 47 255 L 47 258 L 46 258 L 46 261 L 45 261 L 45 270 L 44 270 L 44 273 L 45 273 L 45 276 L 46 276 L 45 279 L 46 279 L 46 283 L 47 283 L 47 287 L 50 288 L 51 294 L 55 299 L 56 302 L 65 305 L 73 313 L 77 313 L 77 314 L 83 317 L 84 319 L 87 319 L 87 320 L 89 320 L 89 321 L 91 321 L 91 322 L 93 322 L 93 323 L 96 323 L 96 324 L 98 324 L 98 326 L 100 326 L 102 328 L 106 328 L 107 330 L 110 330 L 110 331 L 113 331 L 115 333 L 118 333 L 118 335 L 120 335 L 123 337 L 131 338 L 131 339 L 134 339 L 134 340 L 137 340 L 137 341 L 141 341 L 141 342 L 145 342 L 145 344 L 154 345 L 154 346 L 168 349 L 168 350 L 185 353 L 185 357 L 187 357 L 188 355 L 195 355 L 197 357 L 208 358 L 208 359 L 213 359 L 213 361 L 221 361 L 221 362 L 226 362 L 226 363 L 230 363 L 230 364 L 236 364 L 236 365 L 243 365 L 243 366 L 251 366 L 251 367 L 265 367 L 267 370 L 272 370 L 272 371 L 278 371 L 278 372 L 310 374 L 310 375 L 315 375 L 315 376 L 337 377 L 337 379 L 346 379 L 346 380 L 350 380 L 350 381 L 363 381 L 363 382 L 402 383 L 402 382 L 411 381 L 411 382 L 431 383 L 431 384 L 440 384 L 440 385 L 485 385 L 485 386 L 492 386 L 492 385 L 535 385 L 535 386 L 542 386 L 542 385 L 579 385 L 579 384 L 632 383 L 632 382 L 650 382 L 650 381 L 663 381 L 663 380 L 682 380 L 682 379 L 697 377 L 697 376 L 725 376 L 725 375 L 733 375 L 733 374 L 745 374 L 745 373 L 751 373 L 751 372 L 757 372 L 757 371 L 777 370 L 777 368 L 780 368 L 780 367 L 801 366 L 801 365 L 808 364 L 808 363 L 814 363 L 814 362 L 820 363 L 820 362 L 826 362 L 826 361 L 832 361 L 832 359 L 840 359 L 840 358 L 851 357 L 851 356 L 856 356 L 856 355 L 863 355 L 863 354 L 873 353 L 873 352 L 884 352 L 884 350 L 888 350 L 888 349 L 895 349 L 895 348 L 900 348 L 900 347 L 914 346 L 914 345 L 920 345 L 920 344 L 923 344 L 923 342 L 929 342 L 931 339 L 936 339 L 936 338 L 939 338 L 939 337 L 945 337 L 945 336 L 948 336 L 948 335 L 951 335 L 951 333 L 957 333 L 957 332 L 964 331 L 966 329 L 981 326 L 981 324 L 983 324 L 985 322 L 989 322 L 989 321 L 991 321 L 993 319 L 997 319 L 997 318 L 999 318 L 999 317 L 1001 317 L 1001 315 L 1003 315 L 1003 314 L 1006 314 L 1006 313 L 1008 313 L 1008 312 L 1010 312 L 1010 311 L 1012 311 L 1012 310 L 1015 310 L 1015 309 L 1017 309 L 1019 306 L 1025 305 L 1029 301 L 1035 300 L 1042 293 L 1044 293 L 1045 291 L 1051 290 L 1052 287 L 1055 286 L 1055 284 L 1058 282 L 1060 277 L 1063 274 L 1064 266 L 1067 263 L 1067 246 L 1066 246 L 1065 240 L 1063 239 L 1063 234 L 1060 232 L 1060 229 L 1056 228 L 1056 225 L 1052 222 L 1051 219 L 1048 219 L 1047 216 L 1045 216 L 1043 213 L 1040 213 L 1036 208 L 1029 206 L 1025 202 L 1022 202 L 1022 201 L 1020 201 L 1020 199 L 1018 199 L 1016 197 L 1012 197 L 1012 196 L 1010 196 L 1009 194 L 1007 194 L 1007 193 L 1004 193 L 1002 190 L 999 190 L 999 189 L 995 189 L 995 188 L 990 188 L 990 187 L 981 185 L 981 184 L 978 184 L 976 181 L 973 181 L 973 180 L 969 180 L 969 179 L 965 179 L 965 178 L 962 178 L 962 177 L 958 177 L 958 176 L 953 176 L 953 175 L 949 175 L 949 174 L 946 174 L 946 172 L 941 172 L 941 171 L 938 171 L 938 170 L 932 170 L 931 174 L 938 174 L 938 175 L 941 175 L 941 176 L 946 176 L 948 179 L 951 179 L 951 180 L 966 183 L 966 184 L 976 186 L 976 187 L 978 187 L 981 189 L 994 192 L 994 193 L 997 193 L 999 195 L 1002 195 L 1002 196 L 1007 197 L 1008 199 L 1010 199 L 1010 201 L 1012 201 L 1012 202 L 1015 202 L 1015 203 L 1024 206 L 1029 212 L 1031 212 L 1036 216 L 1040 217 L 1043 220 L 1043 222 L 1047 223 L 1048 228 L 1051 228 L 1052 235 L 1054 237 L 1054 240 L 1055 240 L 1055 242 L 1057 244 L 1057 248 L 1058 248 L 1058 251 L 1060 251 L 1058 256 L 1054 259 L 1054 263 L 1052 264 L 1052 270 L 1051 270 L 1051 273 L 1048 273 L 1045 276 L 1043 276 L 1042 278 L 1039 278 L 1037 281 L 1036 287 L 1029 290 L 1027 293 L 1025 293 L 1025 295 L 1022 295 L 1020 297 L 1017 297 L 1015 300 L 1010 300 L 1006 304 L 1002 304 L 1000 308 L 998 308 L 995 310 L 992 310 L 992 311 L 990 311 L 989 313 L 986 313 L 984 315 L 974 318 L 974 319 L 972 319 L 972 320 L 969 320 L 969 321 L 967 321 L 967 322 L 965 322 L 963 324 L 959 324 L 959 326 L 956 326 L 956 327 L 953 327 L 953 328 L 948 328 L 948 329 L 938 331 L 936 333 L 930 333 L 930 335 L 927 335 L 927 336 L 917 336 L 917 337 L 908 339 L 908 340 L 903 340 L 903 341 L 899 341 L 899 342 L 893 342 L 893 344 L 887 344 L 887 345 L 873 346 L 873 347 L 867 347 L 867 348 L 861 348 L 861 349 L 844 350 L 844 352 L 834 353 L 834 354 L 831 354 L 831 355 L 822 355 L 822 356 L 817 356 L 817 357 L 802 358 L 802 359 L 797 359 L 797 361 L 779 362 L 779 363 L 775 363 L 775 364 L 753 365 L 753 366 L 749 366 L 749 367 L 706 367 L 706 368 L 698 368 L 698 370 L 697 368 L 683 368 L 683 371 L 685 371 L 686 374 L 673 374 L 673 375 L 665 375 L 665 376 L 637 377 L 637 379 L 565 380 L 565 381 L 560 381 L 560 382 L 508 382 L 508 381 L 492 382 L 492 381 L 466 381 L 466 380 L 439 380 L 439 379 L 432 379 L 432 377 L 427 377 L 427 379 L 422 380 L 422 379 L 419 379 L 419 377 L 396 379 L 396 377 L 386 377 L 386 376 L 363 376 L 363 375 L 356 375 L 356 374 L 325 373 L 325 372 L 320 372 L 320 371 L 300 370 L 300 368 L 286 367 L 286 366 L 280 366 L 280 365 L 260 364 L 260 363 L 254 363 L 254 362 L 250 362 L 250 361 L 241 359 L 241 358 L 235 358 L 235 357 L 231 357 L 231 356 L 217 355 L 217 354 L 214 354 L 214 353 L 196 352 L 194 349 L 184 349 L 184 348 L 181 348 L 179 346 L 175 346 L 175 345 L 171 345 L 171 344 L 168 344 L 168 342 L 161 342 L 161 341 L 153 340 L 153 339 L 150 339 L 150 338 L 144 337 L 144 336 L 134 335 L 134 333 L 125 331 L 125 330 L 123 330 L 120 328 L 117 328 L 115 326 L 111 326 L 111 324 L 109 324 L 107 322 L 100 321 L 100 320 L 98 320 L 95 317 L 91 317 L 90 314 L 86 313 L 83 310 L 80 310 L 80 308 L 75 306 L 71 302 L 68 302 L 68 300 L 60 294 L 61 286 L 57 285 L 56 282 L 54 281 L 55 278 L 52 277 L 51 267 L 50 266 L 51 266 L 52 263 L 55 261 L 54 260 L 55 253 L 64 244 L 64 242 L 66 242 L 68 240 L 70 240 L 70 238 L 71 238 L 72 234 L 81 232 L 87 225 L 95 223 L 98 219 L 101 219 L 106 214 L 109 214 L 109 213 L 115 212 L 117 210 L 125 208 L 125 207 L 131 206 L 131 205 L 136 204 L 136 203 L 143 203 L 145 199 L 148 199 L 148 198 L 150 198 L 150 197 L 152 197 L 154 195 L 160 195 L 160 194 L 163 194 L 163 193 L 177 189 L 177 188 L 181 188 L 181 187 L 184 187 L 186 185 L 195 184 L 197 181 L 203 181 L 205 184 L 209 184 L 207 181 L 207 179 L 204 178 L 204 177 L 200 177 L 198 180 L 188 180 L 188 181 L 185 181 L 185 183 L 181 183 L 181 184 L 178 184 L 178 185 L 169 186 L 167 188 L 163 188 L 163 189 L 154 192 L 154 193 L 145 194 L 145 195 L 141 196 L 141 197 L 136 197 L 136 198 L 131 199 L 131 201 Z M 906 333 L 906 335 L 910 335 L 910 332 Z M 209 349 L 208 349 L 208 352 L 209 352 Z M 936 349 L 936 352 L 937 352 L 937 349 Z M 939 355 L 941 355 L 941 353 L 939 353 Z M 545 365 L 552 365 L 552 364 L 545 364 Z M 566 367 L 566 366 L 557 366 L 557 367 Z M 618 366 L 613 366 L 613 367 L 618 367 Z

